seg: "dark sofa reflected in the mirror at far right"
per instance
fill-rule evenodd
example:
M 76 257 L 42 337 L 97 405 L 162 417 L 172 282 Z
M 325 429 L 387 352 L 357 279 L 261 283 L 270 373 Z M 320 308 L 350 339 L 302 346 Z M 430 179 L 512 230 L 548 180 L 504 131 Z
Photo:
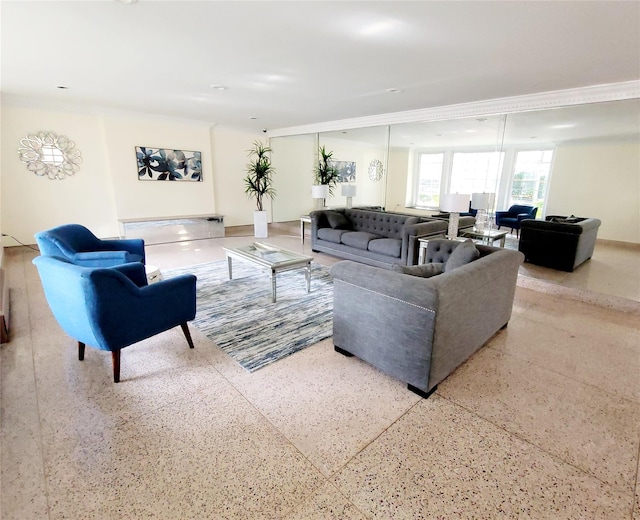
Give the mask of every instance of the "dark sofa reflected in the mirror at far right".
M 518 249 L 529 263 L 573 271 L 593 255 L 600 220 L 547 216 L 521 223 Z

